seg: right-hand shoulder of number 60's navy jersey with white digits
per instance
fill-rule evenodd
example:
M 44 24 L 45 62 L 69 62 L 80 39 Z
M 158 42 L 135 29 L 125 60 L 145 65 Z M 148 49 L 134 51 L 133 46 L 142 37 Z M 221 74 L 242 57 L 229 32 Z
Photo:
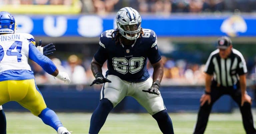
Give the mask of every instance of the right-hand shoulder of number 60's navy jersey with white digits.
M 151 29 L 142 29 L 143 35 L 141 37 L 143 40 L 146 40 L 147 43 L 151 45 L 151 47 L 154 47 L 157 44 L 157 37 L 156 33 Z

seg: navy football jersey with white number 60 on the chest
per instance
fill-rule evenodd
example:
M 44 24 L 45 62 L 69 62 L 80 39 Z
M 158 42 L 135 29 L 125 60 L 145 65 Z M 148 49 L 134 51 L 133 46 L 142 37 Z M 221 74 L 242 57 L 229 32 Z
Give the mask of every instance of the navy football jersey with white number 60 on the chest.
M 153 30 L 143 29 L 144 35 L 132 45 L 115 43 L 111 33 L 104 31 L 100 36 L 100 46 L 94 59 L 103 64 L 107 60 L 106 75 L 116 75 L 129 82 L 142 82 L 150 76 L 147 70 L 147 59 L 151 64 L 157 63 L 161 56 L 157 49 L 157 37 Z

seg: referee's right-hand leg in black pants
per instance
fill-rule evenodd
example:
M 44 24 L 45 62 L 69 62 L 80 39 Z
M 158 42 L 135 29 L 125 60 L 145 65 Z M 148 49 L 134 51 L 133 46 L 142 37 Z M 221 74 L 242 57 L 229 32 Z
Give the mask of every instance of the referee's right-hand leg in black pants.
M 256 130 L 254 128 L 254 122 L 251 111 L 251 104 L 249 102 L 244 102 L 244 105 L 241 106 L 241 90 L 233 90 L 231 93 L 231 97 L 238 104 L 240 108 L 240 112 L 242 114 L 244 129 L 247 134 L 256 134 Z

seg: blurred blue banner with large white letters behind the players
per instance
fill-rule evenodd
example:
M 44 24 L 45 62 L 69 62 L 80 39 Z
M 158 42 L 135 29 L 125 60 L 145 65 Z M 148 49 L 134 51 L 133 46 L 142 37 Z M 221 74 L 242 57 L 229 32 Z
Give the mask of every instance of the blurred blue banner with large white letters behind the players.
M 114 15 L 102 17 L 96 15 L 68 15 L 68 16 L 19 16 L 22 22 L 18 23 L 18 32 L 31 33 L 34 36 L 69 36 L 69 37 L 99 37 L 100 34 L 113 29 Z M 236 36 L 256 36 L 256 17 L 254 15 L 142 15 L 143 28 L 152 29 L 158 37 L 169 36 L 221 36 L 227 33 L 221 30 L 225 25 L 225 31 L 234 31 Z M 24 29 L 30 28 L 31 29 Z M 236 26 L 236 27 L 234 27 Z M 88 28 L 89 27 L 89 28 Z

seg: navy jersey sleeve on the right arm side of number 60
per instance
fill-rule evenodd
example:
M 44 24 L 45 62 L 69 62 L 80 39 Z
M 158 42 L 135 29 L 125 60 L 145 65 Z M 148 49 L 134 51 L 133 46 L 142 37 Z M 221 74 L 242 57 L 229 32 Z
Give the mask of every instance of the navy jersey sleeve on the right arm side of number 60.
M 159 60 L 161 60 L 161 55 L 158 51 L 157 37 L 156 37 L 156 33 L 154 31 L 150 32 L 149 44 L 150 44 L 150 47 L 149 47 L 149 50 L 148 50 L 147 57 L 148 57 L 151 64 L 155 64 Z

